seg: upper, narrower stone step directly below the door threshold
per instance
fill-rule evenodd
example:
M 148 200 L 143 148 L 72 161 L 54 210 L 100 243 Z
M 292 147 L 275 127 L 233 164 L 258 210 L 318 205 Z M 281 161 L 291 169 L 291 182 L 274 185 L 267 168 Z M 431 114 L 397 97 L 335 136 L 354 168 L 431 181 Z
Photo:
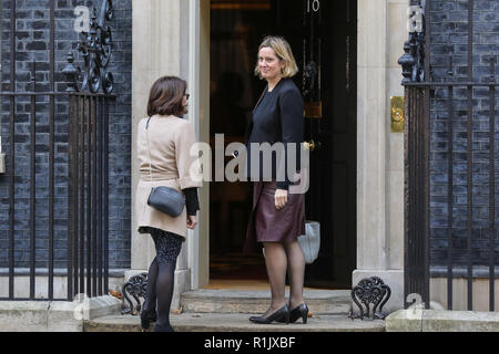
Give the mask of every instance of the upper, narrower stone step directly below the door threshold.
M 289 290 L 286 290 L 289 299 Z M 347 315 L 352 308 L 349 290 L 305 289 L 304 300 L 313 314 Z M 181 295 L 185 313 L 264 313 L 271 301 L 269 290 L 200 289 Z

